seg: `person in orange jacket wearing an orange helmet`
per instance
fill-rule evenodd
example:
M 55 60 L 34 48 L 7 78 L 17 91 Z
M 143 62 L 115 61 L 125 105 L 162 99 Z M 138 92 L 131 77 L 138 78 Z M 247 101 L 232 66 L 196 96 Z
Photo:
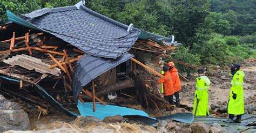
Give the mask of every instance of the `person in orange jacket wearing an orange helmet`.
M 176 98 L 175 104 L 176 104 L 176 107 L 179 107 L 179 105 L 180 105 L 179 90 L 181 89 L 181 83 L 180 83 L 180 79 L 179 79 L 178 70 L 175 68 L 173 62 L 169 62 L 169 63 L 167 63 L 167 65 L 169 65 L 169 72 L 171 73 L 171 77 L 172 77 L 174 96 Z M 171 104 L 174 104 L 174 103 L 171 103 Z

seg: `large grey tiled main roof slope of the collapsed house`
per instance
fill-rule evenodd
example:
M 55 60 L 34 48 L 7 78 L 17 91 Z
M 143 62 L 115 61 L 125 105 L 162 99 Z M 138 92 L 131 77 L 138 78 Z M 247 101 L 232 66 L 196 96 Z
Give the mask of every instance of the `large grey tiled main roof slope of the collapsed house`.
M 117 58 L 128 51 L 140 31 L 127 28 L 84 6 L 41 9 L 24 15 L 33 25 L 44 29 L 85 53 L 105 58 Z

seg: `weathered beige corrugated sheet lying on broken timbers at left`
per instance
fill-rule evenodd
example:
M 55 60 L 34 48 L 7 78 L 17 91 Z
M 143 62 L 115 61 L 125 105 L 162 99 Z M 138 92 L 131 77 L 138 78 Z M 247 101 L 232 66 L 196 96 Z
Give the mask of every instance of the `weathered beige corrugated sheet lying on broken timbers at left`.
M 49 69 L 50 65 L 43 63 L 40 59 L 28 55 L 16 55 L 3 61 L 10 65 L 19 65 L 28 70 L 35 70 L 39 73 L 50 73 L 51 75 L 59 76 L 60 69 Z

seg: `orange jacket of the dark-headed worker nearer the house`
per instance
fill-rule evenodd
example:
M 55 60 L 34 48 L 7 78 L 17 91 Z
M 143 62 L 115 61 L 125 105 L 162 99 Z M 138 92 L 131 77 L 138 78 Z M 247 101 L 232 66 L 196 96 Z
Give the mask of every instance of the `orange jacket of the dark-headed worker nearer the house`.
M 172 95 L 174 93 L 171 73 L 169 71 L 164 73 L 164 77 L 158 80 L 158 84 L 164 83 L 164 96 Z

